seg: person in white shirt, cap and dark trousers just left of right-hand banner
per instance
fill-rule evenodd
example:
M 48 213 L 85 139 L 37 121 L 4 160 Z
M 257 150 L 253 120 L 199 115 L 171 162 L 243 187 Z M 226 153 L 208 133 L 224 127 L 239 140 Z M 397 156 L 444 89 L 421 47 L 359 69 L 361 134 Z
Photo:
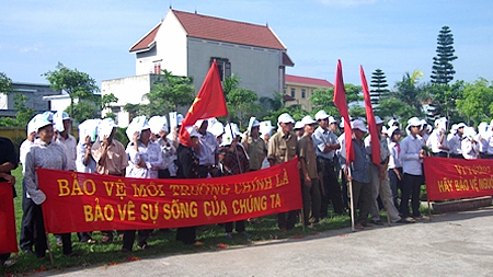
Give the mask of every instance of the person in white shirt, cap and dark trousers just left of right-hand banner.
M 420 192 L 423 184 L 423 158 L 425 151 L 423 150 L 423 139 L 420 132 L 421 122 L 410 119 L 408 129 L 410 135 L 401 142 L 401 161 L 402 170 L 404 172 L 404 182 L 402 184 L 401 208 L 402 218 L 408 219 L 411 213 L 409 210 L 409 200 L 411 198 L 411 206 L 413 209 L 413 218 L 422 218 L 420 213 Z

